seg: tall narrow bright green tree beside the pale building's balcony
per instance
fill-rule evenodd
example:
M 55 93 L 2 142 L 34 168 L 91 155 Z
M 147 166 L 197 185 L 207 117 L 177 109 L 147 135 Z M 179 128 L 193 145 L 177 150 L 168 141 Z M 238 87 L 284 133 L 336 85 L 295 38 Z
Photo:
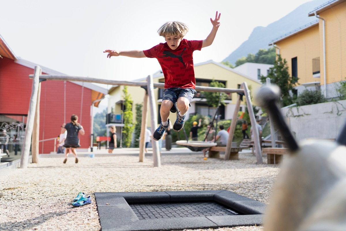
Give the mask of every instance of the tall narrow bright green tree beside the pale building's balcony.
M 122 143 L 126 148 L 129 148 L 131 146 L 132 141 L 132 133 L 135 129 L 133 124 L 133 113 L 132 113 L 132 104 L 133 100 L 131 99 L 131 96 L 128 94 L 127 86 L 124 87 L 124 90 L 122 91 L 124 93 L 124 112 L 123 118 L 124 118 L 124 128 L 122 129 Z

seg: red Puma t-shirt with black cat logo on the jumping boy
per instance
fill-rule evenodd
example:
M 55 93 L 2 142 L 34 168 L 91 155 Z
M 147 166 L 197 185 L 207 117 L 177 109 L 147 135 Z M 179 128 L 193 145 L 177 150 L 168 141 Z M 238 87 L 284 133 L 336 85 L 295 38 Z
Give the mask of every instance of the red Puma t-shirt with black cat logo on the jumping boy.
M 202 40 L 182 39 L 180 45 L 172 50 L 167 43 L 160 43 L 143 51 L 148 58 L 156 58 L 165 77 L 165 88 L 195 88 L 192 53 L 201 50 Z

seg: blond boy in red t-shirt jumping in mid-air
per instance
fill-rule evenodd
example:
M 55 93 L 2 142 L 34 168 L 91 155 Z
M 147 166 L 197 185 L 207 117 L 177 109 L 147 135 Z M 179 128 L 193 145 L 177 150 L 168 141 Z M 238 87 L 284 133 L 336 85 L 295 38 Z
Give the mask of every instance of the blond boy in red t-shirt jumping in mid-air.
M 204 40 L 189 41 L 183 39 L 189 28 L 179 21 L 169 21 L 157 30 L 157 33 L 165 38 L 166 43 L 160 43 L 144 51 L 104 51 L 104 53 L 108 53 L 107 58 L 119 55 L 134 58 L 148 57 L 156 58 L 160 63 L 165 77 L 165 90 L 160 109 L 162 122 L 153 134 L 154 140 L 160 140 L 170 126 L 168 116 L 170 111 L 176 112 L 175 103 L 179 113 L 173 124 L 173 130 L 179 132 L 183 128 L 186 112 L 190 107 L 193 95 L 196 93 L 192 53 L 213 43 L 220 26 L 220 16 L 221 14 L 218 15 L 216 11 L 215 19 L 210 18 L 213 28 Z

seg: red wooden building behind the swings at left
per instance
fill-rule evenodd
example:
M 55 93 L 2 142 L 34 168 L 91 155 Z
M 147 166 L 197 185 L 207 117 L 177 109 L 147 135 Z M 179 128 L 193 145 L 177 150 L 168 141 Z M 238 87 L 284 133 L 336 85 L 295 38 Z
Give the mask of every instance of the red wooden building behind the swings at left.
M 33 82 L 29 74 L 33 74 L 34 66 L 39 64 L 18 58 L 1 36 L 0 55 L 0 143 L 3 130 L 6 130 L 10 135 L 8 151 L 20 155 Z M 63 74 L 40 67 L 43 74 Z M 60 126 L 69 123 L 72 114 L 78 115 L 85 130 L 85 135 L 80 137 L 80 149 L 87 149 L 90 146 L 91 105 L 106 94 L 107 89 L 87 82 L 41 82 L 39 153 L 54 151 L 54 140 L 42 140 L 57 137 Z M 98 105 L 99 102 L 94 103 Z

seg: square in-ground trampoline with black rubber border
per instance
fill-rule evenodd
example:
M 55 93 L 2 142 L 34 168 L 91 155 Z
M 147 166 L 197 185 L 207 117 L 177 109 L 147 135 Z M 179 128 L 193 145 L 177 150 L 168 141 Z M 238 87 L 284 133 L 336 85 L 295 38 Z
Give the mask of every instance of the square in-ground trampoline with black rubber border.
M 94 193 L 102 231 L 262 224 L 265 204 L 228 190 Z

